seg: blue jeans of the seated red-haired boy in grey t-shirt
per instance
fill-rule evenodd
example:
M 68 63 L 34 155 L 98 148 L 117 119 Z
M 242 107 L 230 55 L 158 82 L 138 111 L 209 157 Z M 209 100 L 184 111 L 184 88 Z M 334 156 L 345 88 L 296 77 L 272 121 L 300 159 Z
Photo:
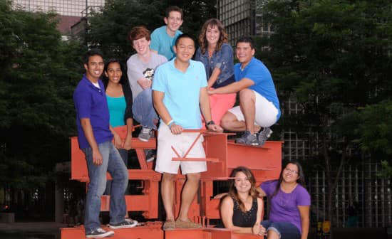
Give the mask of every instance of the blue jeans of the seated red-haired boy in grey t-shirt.
M 157 129 L 154 119 L 158 119 L 153 105 L 153 90 L 145 89 L 135 97 L 132 105 L 133 118 L 143 127 Z

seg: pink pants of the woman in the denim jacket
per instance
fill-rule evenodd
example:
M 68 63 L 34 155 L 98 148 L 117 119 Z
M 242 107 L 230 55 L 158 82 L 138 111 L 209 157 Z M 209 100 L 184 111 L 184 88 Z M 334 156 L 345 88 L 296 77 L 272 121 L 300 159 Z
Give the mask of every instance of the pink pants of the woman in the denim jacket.
M 210 95 L 210 108 L 212 120 L 215 124 L 220 125 L 220 120 L 223 115 L 227 112 L 227 110 L 231 109 L 235 103 L 236 93 L 232 94 L 215 94 Z M 205 119 L 202 117 L 202 122 L 205 122 Z M 205 129 L 205 124 L 203 123 L 203 129 Z

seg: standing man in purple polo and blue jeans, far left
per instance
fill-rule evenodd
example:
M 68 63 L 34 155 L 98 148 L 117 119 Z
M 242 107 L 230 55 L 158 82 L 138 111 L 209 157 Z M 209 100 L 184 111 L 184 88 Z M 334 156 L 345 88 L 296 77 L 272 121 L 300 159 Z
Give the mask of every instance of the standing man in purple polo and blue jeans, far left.
M 131 228 L 138 224 L 137 221 L 125 219 L 127 211 L 124 193 L 128 186 L 128 170 L 112 144 L 115 132 L 109 124 L 108 103 L 100 80 L 103 65 L 102 53 L 98 49 L 88 51 L 84 63 L 86 74 L 73 92 L 78 142 L 86 155 L 90 179 L 84 220 L 86 238 L 105 238 L 114 234 L 111 230 L 100 228 L 99 221 L 100 196 L 105 191 L 106 171 L 113 178 L 109 227 Z

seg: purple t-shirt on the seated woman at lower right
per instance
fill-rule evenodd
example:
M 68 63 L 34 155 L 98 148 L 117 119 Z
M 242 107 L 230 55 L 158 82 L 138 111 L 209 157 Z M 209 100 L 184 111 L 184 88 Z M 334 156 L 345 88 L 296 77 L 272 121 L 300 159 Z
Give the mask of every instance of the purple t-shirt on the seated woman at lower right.
M 272 196 L 278 181 L 267 181 L 260 186 L 267 196 Z M 269 220 L 273 222 L 289 222 L 301 228 L 301 216 L 297 206 L 310 206 L 310 195 L 306 189 L 297 184 L 291 193 L 284 193 L 279 188 L 277 195 L 271 200 Z

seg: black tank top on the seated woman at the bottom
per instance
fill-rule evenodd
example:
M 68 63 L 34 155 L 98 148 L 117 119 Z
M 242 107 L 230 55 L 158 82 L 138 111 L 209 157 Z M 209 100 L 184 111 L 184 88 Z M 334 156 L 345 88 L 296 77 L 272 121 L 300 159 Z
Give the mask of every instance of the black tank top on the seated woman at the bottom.
M 238 202 L 234 198 L 233 201 L 233 225 L 241 228 L 252 228 L 257 221 L 257 199 L 253 199 L 252 208 L 246 212 L 241 211 Z

